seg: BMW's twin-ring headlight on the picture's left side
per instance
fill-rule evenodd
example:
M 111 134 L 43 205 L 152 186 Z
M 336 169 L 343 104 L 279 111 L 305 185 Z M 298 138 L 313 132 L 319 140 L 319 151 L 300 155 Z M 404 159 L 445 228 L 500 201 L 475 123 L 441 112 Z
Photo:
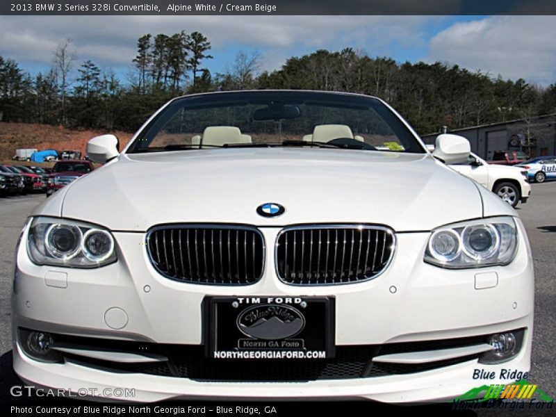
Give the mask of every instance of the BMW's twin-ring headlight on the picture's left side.
M 56 218 L 34 218 L 27 252 L 38 265 L 95 268 L 116 261 L 112 234 L 95 224 Z

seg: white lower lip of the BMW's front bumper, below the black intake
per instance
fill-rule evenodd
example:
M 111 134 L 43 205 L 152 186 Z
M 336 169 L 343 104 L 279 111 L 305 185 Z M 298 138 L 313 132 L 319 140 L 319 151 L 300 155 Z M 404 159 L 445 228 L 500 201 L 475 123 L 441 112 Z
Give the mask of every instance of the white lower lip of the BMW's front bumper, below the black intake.
M 17 349 L 17 350 L 16 350 Z M 154 402 L 176 399 L 289 398 L 309 400 L 367 399 L 380 402 L 432 402 L 457 398 L 482 384 L 508 384 L 507 379 L 474 380 L 475 369 L 502 368 L 526 370 L 530 366 L 530 344 L 510 362 L 486 367 L 475 362 L 461 363 L 441 370 L 391 377 L 332 379 L 310 382 L 202 382 L 193 379 L 159 377 L 136 373 L 109 373 L 85 368 L 79 363 L 51 365 L 33 361 L 19 347 L 14 350 L 14 368 L 24 382 L 39 387 L 65 389 L 70 393 L 87 390 L 90 396 L 111 400 Z M 121 394 L 120 394 L 121 393 Z M 127 393 L 127 395 L 123 395 Z

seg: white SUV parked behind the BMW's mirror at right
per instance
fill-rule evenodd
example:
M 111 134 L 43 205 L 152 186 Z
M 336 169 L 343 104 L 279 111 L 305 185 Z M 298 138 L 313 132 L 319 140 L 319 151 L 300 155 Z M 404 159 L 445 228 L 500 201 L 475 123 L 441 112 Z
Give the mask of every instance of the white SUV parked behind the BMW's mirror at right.
M 517 206 L 518 202 L 526 203 L 531 194 L 527 171 L 523 167 L 491 165 L 473 152 L 466 161 L 452 164 L 450 167 L 474 179 L 512 207 Z

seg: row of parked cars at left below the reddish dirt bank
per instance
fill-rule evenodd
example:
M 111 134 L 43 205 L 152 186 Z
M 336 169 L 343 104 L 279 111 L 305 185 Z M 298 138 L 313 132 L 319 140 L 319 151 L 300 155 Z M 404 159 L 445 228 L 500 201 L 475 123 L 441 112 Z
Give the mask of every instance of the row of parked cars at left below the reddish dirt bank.
M 41 167 L 0 165 L 0 196 L 47 193 L 47 197 L 94 170 L 90 161 L 58 161 L 50 172 Z

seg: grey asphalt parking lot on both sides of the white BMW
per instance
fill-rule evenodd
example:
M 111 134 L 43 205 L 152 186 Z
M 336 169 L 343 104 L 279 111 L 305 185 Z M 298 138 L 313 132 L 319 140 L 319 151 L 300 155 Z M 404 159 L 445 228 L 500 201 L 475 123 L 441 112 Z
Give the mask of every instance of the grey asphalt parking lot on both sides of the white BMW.
M 0 402 L 9 402 L 10 386 L 19 384 L 12 370 L 10 332 L 10 291 L 15 243 L 26 217 L 44 198 L 44 195 L 0 198 Z M 556 396 L 555 208 L 556 182 L 533 184 L 529 202 L 518 206 L 518 213 L 523 219 L 532 246 L 536 275 L 536 316 L 529 380 L 553 397 Z

